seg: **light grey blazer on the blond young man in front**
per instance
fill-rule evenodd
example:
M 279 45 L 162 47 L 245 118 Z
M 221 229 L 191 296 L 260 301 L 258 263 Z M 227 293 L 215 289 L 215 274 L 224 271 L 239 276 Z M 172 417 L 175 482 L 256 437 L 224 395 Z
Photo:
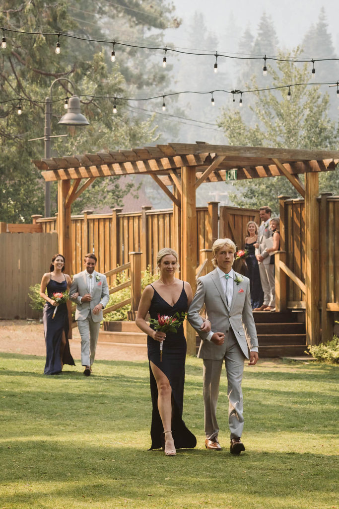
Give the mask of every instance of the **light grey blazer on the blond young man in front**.
M 188 310 L 188 321 L 201 337 L 198 357 L 202 359 L 223 359 L 226 353 L 226 341 L 217 346 L 206 340 L 207 332 L 201 331 L 202 318 L 199 312 L 206 306 L 208 320 L 211 322 L 213 332 L 227 333 L 231 327 L 244 356 L 249 358 L 248 347 L 258 347 L 256 326 L 254 323 L 250 279 L 234 272 L 235 277 L 242 278 L 236 284 L 233 282 L 233 297 L 231 307 L 226 303 L 226 295 L 217 269 L 197 280 L 197 291 Z

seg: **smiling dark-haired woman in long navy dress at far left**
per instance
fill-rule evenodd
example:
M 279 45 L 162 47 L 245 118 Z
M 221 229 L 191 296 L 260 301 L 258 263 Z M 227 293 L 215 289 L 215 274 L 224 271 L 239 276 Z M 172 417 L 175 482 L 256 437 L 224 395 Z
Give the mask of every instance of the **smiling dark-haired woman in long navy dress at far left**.
M 67 297 L 65 302 L 58 303 L 53 294 L 65 294 L 71 286 L 71 278 L 64 274 L 65 258 L 62 254 L 54 254 L 52 263 L 41 279 L 40 296 L 46 300 L 42 321 L 46 342 L 45 375 L 56 375 L 63 369 L 64 364 L 74 366 L 68 342 L 68 309 Z M 47 288 L 47 295 L 45 293 Z M 55 307 L 57 308 L 55 309 Z

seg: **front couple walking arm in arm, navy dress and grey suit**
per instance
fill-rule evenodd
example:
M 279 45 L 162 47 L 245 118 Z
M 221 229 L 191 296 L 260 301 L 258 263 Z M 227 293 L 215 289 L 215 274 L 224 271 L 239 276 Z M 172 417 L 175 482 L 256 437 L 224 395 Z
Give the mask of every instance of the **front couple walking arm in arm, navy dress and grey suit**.
M 175 456 L 179 448 L 193 448 L 197 441 L 182 420 L 186 358 L 183 326 L 181 324 L 176 332 L 165 334 L 156 330 L 154 322 L 159 315 L 173 317 L 186 312 L 188 321 L 201 338 L 198 358 L 203 359 L 205 447 L 222 449 L 218 439 L 217 402 L 225 361 L 230 451 L 240 454 L 245 450 L 241 442 L 244 422 L 241 391 L 243 366 L 245 359 L 249 359 L 249 365 L 252 366 L 259 357 L 250 280 L 232 269 L 235 251 L 236 246 L 231 239 L 214 242 L 212 263 L 215 269 L 198 278 L 193 297 L 189 283 L 174 277 L 178 269 L 176 251 L 161 249 L 157 258 L 160 277 L 143 291 L 136 324 L 147 334 L 152 398 L 150 449 L 163 447 L 166 456 Z M 204 305 L 208 320 L 199 314 Z M 146 321 L 148 312 L 151 325 Z

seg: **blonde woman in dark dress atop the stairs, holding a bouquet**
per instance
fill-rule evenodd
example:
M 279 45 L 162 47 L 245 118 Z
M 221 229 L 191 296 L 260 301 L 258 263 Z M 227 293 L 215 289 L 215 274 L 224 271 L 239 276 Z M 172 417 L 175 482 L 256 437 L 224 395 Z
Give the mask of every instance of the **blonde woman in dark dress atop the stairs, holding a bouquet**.
M 247 223 L 247 236 L 245 238 L 245 249 L 248 252 L 246 256 L 246 265 L 249 271 L 251 304 L 252 309 L 260 307 L 264 302 L 264 292 L 262 291 L 259 265 L 255 256 L 255 248 L 258 246 L 258 224 L 254 221 Z

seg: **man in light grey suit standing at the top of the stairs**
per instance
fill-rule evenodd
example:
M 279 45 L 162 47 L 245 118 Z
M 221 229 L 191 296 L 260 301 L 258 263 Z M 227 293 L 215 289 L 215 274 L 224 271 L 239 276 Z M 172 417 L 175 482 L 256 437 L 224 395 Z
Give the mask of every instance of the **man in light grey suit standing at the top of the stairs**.
M 258 241 L 254 244 L 256 258 L 259 265 L 259 274 L 261 286 L 264 292 L 264 302 L 255 311 L 274 311 L 275 310 L 275 280 L 274 280 L 274 257 L 271 258 L 267 252 L 267 239 L 272 237 L 273 232 L 269 226 L 272 209 L 270 207 L 260 207 L 259 215 L 261 224 L 258 230 Z

